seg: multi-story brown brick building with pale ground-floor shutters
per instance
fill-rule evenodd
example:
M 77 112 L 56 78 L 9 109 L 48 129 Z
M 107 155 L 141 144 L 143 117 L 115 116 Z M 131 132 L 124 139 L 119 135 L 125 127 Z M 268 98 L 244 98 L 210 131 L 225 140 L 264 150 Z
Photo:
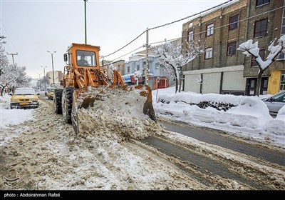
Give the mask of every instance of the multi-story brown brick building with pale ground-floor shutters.
M 197 38 L 205 43 L 204 54 L 185 67 L 185 91 L 255 95 L 257 63 L 237 48 L 253 39 L 259 42 L 259 54 L 265 59 L 269 53 L 267 46 L 285 32 L 283 14 L 283 0 L 233 0 L 183 24 L 183 46 L 187 40 Z M 283 59 L 280 56 L 264 72 L 261 94 L 284 90 L 281 83 L 282 79 L 285 81 L 284 63 L 284 56 Z

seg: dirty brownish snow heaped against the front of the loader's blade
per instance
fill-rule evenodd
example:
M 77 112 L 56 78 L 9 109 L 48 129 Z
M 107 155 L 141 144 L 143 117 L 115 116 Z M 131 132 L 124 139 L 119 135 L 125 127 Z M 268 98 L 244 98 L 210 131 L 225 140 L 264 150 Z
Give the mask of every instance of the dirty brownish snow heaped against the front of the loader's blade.
M 131 87 L 90 87 L 78 99 L 79 136 L 120 142 L 145 139 L 155 133 L 160 127 L 143 114 L 146 97 L 140 96 L 142 91 Z

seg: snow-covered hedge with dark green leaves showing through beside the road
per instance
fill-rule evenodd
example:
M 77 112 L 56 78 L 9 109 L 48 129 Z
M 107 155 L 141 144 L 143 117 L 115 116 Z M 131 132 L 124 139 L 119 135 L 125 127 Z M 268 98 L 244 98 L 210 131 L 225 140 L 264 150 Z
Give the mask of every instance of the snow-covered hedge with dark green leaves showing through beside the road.
M 259 124 L 271 119 L 266 105 L 257 96 L 182 93 L 161 95 L 159 101 L 155 109 L 159 109 L 160 114 L 175 111 L 174 114 L 180 115 L 181 110 L 177 109 L 179 107 L 182 109 L 183 119 L 189 121 L 202 119 L 206 122 L 257 128 Z M 240 115 L 243 115 L 242 119 L 238 117 Z

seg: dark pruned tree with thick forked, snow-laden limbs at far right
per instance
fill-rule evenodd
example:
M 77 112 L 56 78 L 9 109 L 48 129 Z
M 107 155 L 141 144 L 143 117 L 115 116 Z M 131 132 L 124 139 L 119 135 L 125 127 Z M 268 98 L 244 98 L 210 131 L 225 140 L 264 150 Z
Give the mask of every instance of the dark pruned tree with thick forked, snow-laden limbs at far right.
M 259 56 L 258 41 L 254 42 L 253 44 L 252 39 L 249 39 L 248 41 L 239 45 L 238 50 L 244 51 L 243 54 L 246 56 L 253 56 L 254 60 L 257 61 L 257 67 L 259 68 L 257 88 L 255 90 L 255 94 L 257 94 L 257 96 L 260 94 L 262 74 L 273 63 L 273 61 L 276 59 L 276 56 L 278 56 L 280 53 L 285 52 L 285 36 L 280 37 L 280 39 L 277 41 L 276 46 L 274 46 L 275 42 L 276 39 L 274 39 L 274 41 L 271 41 L 271 44 L 268 46 L 269 55 L 266 57 L 265 61 L 263 61 Z

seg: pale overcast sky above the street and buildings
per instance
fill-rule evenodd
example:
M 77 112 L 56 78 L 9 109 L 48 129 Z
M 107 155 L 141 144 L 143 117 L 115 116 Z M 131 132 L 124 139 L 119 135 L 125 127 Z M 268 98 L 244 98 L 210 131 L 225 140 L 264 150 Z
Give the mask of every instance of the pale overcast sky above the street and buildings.
M 183 19 L 227 0 L 186 1 L 93 1 L 87 5 L 87 43 L 100 46 L 100 56 L 106 56 L 139 36 L 147 28 Z M 63 71 L 63 54 L 71 43 L 85 43 L 84 1 L 0 0 L 1 35 L 6 36 L 4 48 L 14 54 L 19 66 L 26 66 L 33 78 L 43 76 L 43 68 Z M 149 32 L 149 42 L 175 39 L 182 35 L 182 20 Z M 145 44 L 142 34 L 127 48 L 105 59 L 118 59 Z M 140 51 L 143 49 L 138 49 Z M 131 54 L 128 54 L 130 56 Z M 120 59 L 128 61 L 128 56 Z M 10 63 L 12 56 L 8 55 Z

